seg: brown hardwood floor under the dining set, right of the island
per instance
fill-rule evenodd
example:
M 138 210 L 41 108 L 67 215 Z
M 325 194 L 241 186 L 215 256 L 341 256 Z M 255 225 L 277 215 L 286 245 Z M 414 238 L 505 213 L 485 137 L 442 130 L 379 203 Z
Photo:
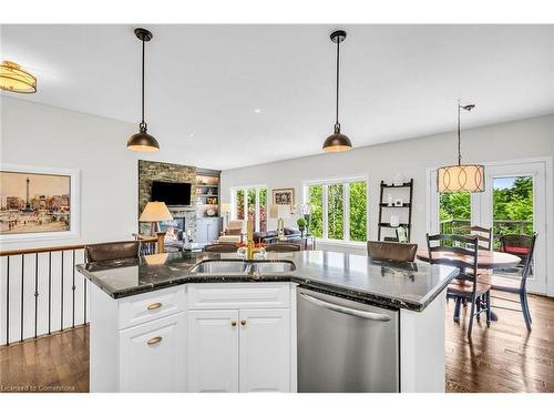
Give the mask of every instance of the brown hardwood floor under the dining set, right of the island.
M 448 303 L 447 392 L 554 392 L 554 298 L 530 295 L 529 303 L 532 332 L 527 332 L 521 312 L 493 308 L 499 321 L 490 328 L 484 318 L 474 322 L 471 341 L 465 337 L 470 306 L 462 308 L 456 324 L 452 321 L 454 302 Z M 496 298 L 492 304 L 519 307 Z

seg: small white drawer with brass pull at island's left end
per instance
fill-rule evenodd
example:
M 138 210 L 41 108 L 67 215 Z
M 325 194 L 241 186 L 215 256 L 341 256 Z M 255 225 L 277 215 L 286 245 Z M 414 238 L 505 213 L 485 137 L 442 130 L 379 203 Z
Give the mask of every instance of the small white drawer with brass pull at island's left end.
M 185 310 L 185 288 L 170 287 L 120 301 L 120 329 Z

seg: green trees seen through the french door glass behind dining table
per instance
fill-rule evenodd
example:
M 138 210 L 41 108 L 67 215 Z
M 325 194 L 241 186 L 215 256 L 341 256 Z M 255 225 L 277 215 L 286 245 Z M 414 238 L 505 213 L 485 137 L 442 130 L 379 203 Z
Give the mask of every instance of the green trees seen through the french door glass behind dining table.
M 471 220 L 469 193 L 440 194 L 441 232 L 468 233 Z M 531 176 L 493 180 L 493 220 L 495 236 L 533 233 L 533 179 Z

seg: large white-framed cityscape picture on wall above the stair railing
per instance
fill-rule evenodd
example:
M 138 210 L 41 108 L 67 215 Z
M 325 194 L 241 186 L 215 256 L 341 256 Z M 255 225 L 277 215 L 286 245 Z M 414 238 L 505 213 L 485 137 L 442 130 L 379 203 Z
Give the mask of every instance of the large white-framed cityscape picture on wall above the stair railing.
M 79 171 L 2 164 L 0 241 L 79 236 Z

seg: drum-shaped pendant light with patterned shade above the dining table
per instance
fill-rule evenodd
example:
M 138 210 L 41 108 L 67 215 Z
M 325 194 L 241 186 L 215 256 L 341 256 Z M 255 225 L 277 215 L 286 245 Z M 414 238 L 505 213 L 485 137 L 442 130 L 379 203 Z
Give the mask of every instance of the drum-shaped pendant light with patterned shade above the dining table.
M 438 192 L 483 192 L 484 166 L 482 164 L 462 164 L 460 113 L 471 111 L 475 105 L 461 105 L 458 102 L 458 164 L 442 166 L 437 171 Z

